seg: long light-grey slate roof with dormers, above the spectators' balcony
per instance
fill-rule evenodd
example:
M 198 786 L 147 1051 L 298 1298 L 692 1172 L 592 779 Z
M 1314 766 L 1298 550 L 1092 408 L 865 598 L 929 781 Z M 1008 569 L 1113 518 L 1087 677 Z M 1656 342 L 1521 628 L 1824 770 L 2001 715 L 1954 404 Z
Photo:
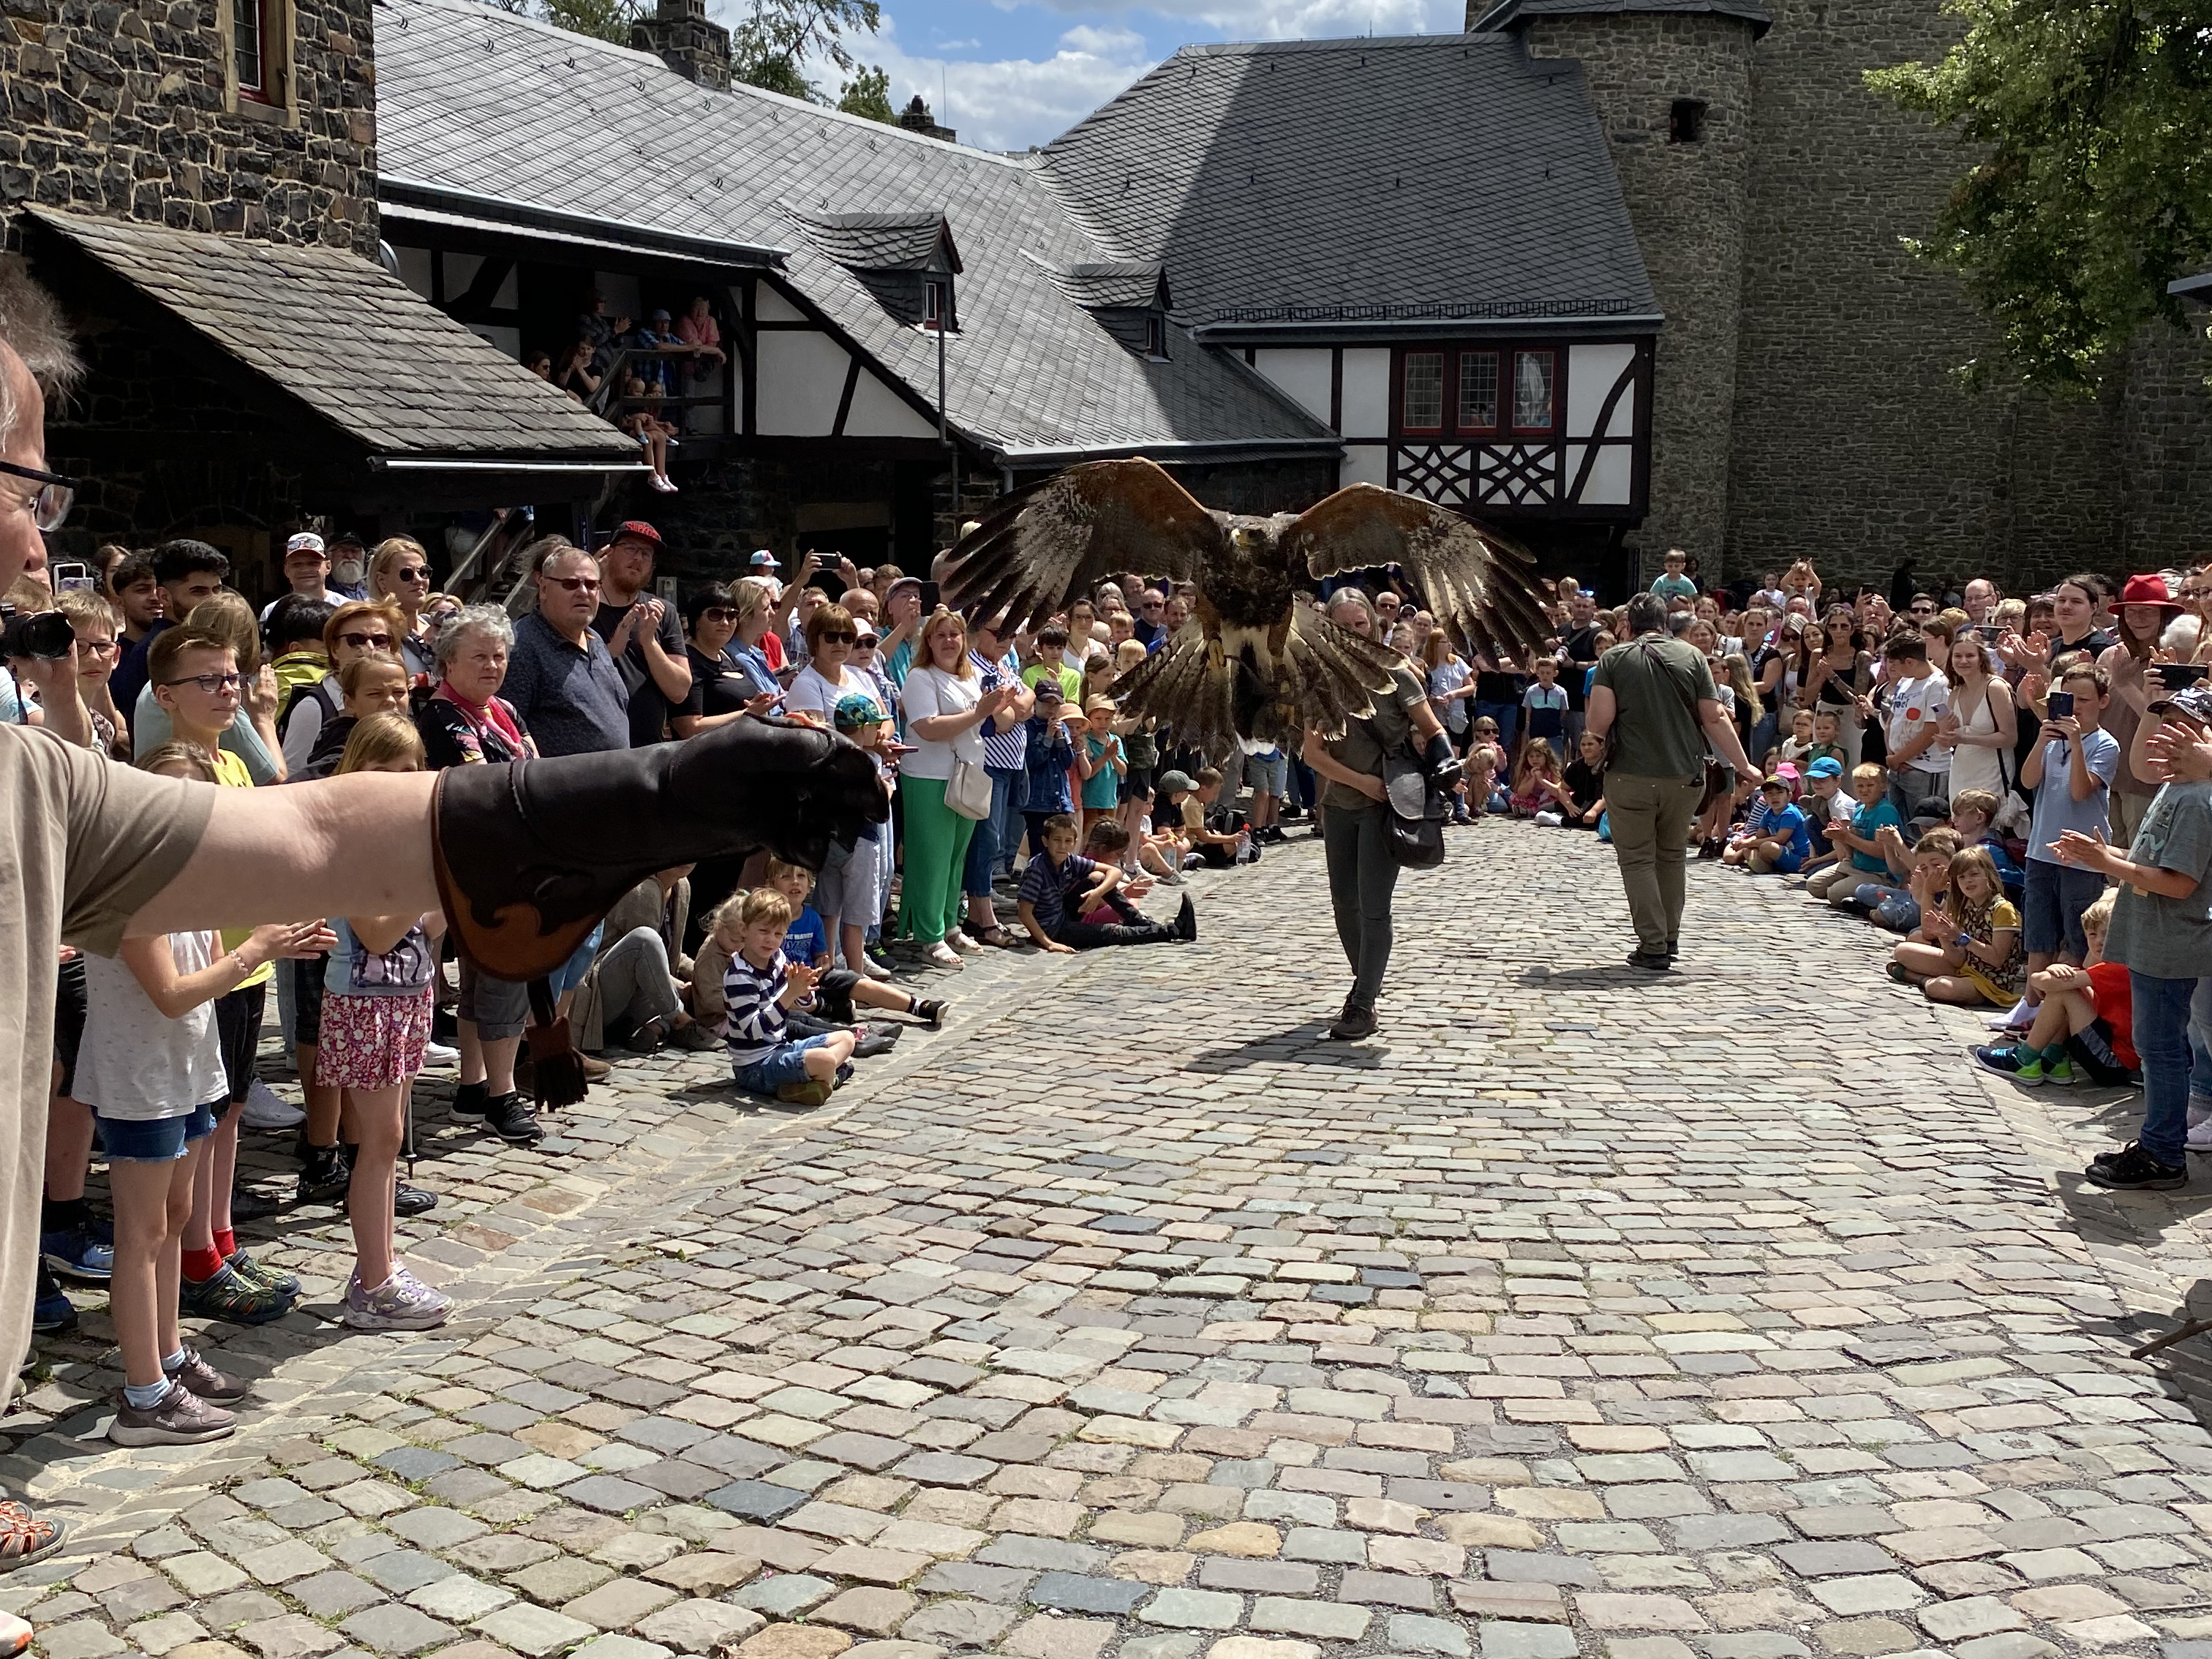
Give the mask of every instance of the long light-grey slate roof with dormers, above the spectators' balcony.
M 949 418 L 989 451 L 1336 447 L 1241 361 L 1190 341 L 1146 361 L 1071 303 L 1053 270 L 1115 250 L 1033 159 L 750 86 L 703 88 L 646 53 L 467 0 L 378 0 L 376 13 L 380 175 L 787 248 L 785 281 L 929 411 L 938 336 L 887 314 L 799 215 L 949 215 L 967 263 L 947 336 Z

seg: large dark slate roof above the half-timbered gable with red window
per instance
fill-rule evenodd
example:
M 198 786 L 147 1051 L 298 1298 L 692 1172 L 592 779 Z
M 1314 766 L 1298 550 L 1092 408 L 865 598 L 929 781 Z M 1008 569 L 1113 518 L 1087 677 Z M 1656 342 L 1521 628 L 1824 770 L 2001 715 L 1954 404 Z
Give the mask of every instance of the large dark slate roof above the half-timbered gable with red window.
M 1582 69 L 1511 35 L 1183 46 L 1042 161 L 1201 325 L 1659 310 Z

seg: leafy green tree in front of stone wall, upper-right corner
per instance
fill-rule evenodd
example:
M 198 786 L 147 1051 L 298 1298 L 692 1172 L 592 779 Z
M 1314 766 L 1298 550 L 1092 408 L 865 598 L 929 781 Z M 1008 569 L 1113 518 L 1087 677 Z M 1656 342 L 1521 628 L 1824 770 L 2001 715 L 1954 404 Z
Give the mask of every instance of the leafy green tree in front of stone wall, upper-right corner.
M 2095 389 L 2166 283 L 2212 259 L 2208 0 L 1944 0 L 1966 33 L 1867 84 L 1982 146 L 1913 250 L 1989 312 L 2006 365 L 1969 378 Z

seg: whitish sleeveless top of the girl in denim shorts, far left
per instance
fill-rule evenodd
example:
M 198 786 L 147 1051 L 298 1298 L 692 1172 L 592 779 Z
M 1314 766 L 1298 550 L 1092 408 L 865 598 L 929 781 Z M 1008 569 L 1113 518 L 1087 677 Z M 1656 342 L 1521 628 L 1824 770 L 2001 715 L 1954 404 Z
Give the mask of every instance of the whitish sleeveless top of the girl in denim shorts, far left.
M 215 933 L 170 933 L 177 973 L 215 962 Z M 117 958 L 84 958 L 84 1040 L 77 1044 L 75 1097 L 102 1117 L 153 1121 L 184 1117 L 223 1099 L 223 1048 L 215 1002 L 170 1020 Z

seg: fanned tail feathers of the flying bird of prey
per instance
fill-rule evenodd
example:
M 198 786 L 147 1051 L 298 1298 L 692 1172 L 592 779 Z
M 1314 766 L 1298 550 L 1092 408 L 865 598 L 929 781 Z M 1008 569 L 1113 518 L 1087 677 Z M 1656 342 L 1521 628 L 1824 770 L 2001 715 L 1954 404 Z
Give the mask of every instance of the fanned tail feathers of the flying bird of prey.
M 1210 761 L 1237 752 L 1239 737 L 1296 754 L 1307 730 L 1338 737 L 1345 721 L 1374 712 L 1405 659 L 1349 628 L 1338 628 L 1298 599 L 1272 664 L 1232 657 L 1197 622 L 1115 681 L 1113 697 L 1130 719 L 1175 728 L 1175 741 Z

